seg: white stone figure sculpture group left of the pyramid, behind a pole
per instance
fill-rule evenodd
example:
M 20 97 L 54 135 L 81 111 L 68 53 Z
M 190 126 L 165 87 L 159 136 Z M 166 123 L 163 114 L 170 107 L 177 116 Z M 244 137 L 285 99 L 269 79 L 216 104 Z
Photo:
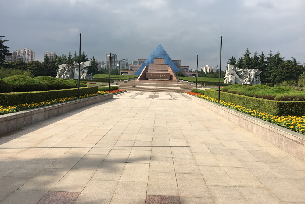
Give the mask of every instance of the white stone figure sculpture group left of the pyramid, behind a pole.
M 88 74 L 88 69 L 85 69 L 86 67 L 89 67 L 91 65 L 91 60 L 88 60 L 86 62 L 81 62 L 80 66 L 80 78 L 81 79 L 93 79 L 92 73 Z M 78 63 L 73 61 L 73 65 L 63 64 L 58 65 L 59 69 L 57 71 L 57 78 L 60 79 L 78 79 Z

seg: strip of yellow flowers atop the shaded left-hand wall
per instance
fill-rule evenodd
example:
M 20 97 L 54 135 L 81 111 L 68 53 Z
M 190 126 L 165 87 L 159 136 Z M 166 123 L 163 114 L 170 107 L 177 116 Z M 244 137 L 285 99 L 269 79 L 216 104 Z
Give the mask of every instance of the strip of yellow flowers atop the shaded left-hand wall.
M 98 95 L 104 95 L 104 94 L 109 94 L 109 91 L 99 91 L 98 93 L 95 93 L 95 94 L 85 94 L 85 95 L 79 96 L 79 98 L 88 98 L 91 96 L 98 96 Z M 63 102 L 67 102 L 67 101 L 73 101 L 76 99 L 78 99 L 77 96 L 71 96 L 71 97 L 66 97 L 66 98 L 48 100 L 48 101 L 39 102 L 39 103 L 26 103 L 26 104 L 19 104 L 17 106 L 0 106 L 0 115 L 4 115 L 7 113 L 15 113 L 18 111 L 38 108 L 38 107 L 42 107 L 42 106 L 49 106 L 52 104 L 63 103 Z

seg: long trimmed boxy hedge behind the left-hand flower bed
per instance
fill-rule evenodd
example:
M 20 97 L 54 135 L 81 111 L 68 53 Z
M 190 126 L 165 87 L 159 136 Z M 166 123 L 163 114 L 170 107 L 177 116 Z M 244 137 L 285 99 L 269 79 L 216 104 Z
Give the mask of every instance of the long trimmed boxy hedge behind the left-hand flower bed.
M 97 93 L 98 87 L 83 87 L 80 88 L 79 92 L 80 95 Z M 77 88 L 51 91 L 0 93 L 0 105 L 16 106 L 24 103 L 37 103 L 57 98 L 77 96 L 77 93 Z

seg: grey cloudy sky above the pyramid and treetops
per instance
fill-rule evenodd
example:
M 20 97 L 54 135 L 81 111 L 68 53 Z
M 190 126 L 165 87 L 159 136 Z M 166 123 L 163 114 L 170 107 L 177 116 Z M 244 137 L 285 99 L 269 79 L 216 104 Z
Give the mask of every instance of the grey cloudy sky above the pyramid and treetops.
M 305 62 L 304 0 L 1 0 L 0 35 L 10 51 L 28 47 L 35 60 L 48 50 L 79 50 L 105 61 L 146 59 L 160 43 L 173 60 L 196 69 L 248 48 Z

